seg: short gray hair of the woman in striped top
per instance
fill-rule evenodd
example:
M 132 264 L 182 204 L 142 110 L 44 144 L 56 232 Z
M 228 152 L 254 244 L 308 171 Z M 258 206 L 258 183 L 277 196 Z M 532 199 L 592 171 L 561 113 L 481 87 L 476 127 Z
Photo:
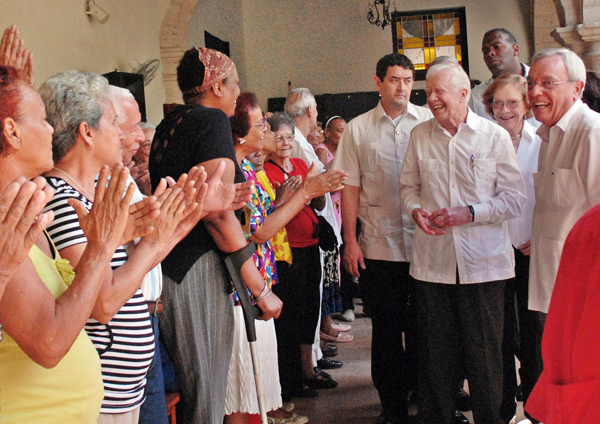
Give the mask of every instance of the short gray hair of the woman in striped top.
M 39 92 L 54 127 L 52 153 L 58 163 L 75 146 L 82 122 L 98 128 L 110 101 L 108 81 L 92 72 L 62 72 L 48 78 Z

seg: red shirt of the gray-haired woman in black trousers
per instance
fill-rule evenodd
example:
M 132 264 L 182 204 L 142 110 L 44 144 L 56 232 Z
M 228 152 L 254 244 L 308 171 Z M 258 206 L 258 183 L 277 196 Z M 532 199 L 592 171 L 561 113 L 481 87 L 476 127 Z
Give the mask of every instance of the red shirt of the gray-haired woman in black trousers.
M 273 187 L 278 187 L 283 184 L 289 177 L 300 175 L 304 177 L 308 173 L 308 167 L 302 159 L 290 159 L 294 169 L 291 172 L 284 171 L 277 165 L 271 162 L 264 164 L 264 171 L 271 181 Z M 314 238 L 315 228 L 318 228 L 319 220 L 310 206 L 304 206 L 298 214 L 292 218 L 285 226 L 288 233 L 288 242 L 291 247 L 308 247 L 314 246 L 319 242 L 319 238 Z

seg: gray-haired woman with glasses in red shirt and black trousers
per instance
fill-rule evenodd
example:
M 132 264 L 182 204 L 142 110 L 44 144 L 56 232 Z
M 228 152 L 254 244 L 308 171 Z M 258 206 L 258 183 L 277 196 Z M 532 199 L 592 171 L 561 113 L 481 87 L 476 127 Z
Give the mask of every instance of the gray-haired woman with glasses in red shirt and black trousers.
M 308 180 L 315 175 L 301 159 L 291 158 L 294 144 L 294 121 L 284 113 L 269 118 L 275 132 L 275 153 L 264 165 L 264 170 L 274 187 L 286 180 L 300 176 Z M 323 173 L 319 177 L 327 175 Z M 345 178 L 344 173 L 344 178 Z M 332 183 L 331 190 L 336 190 Z M 329 190 L 328 190 L 329 191 Z M 288 401 L 293 396 L 317 396 L 314 389 L 333 388 L 337 383 L 312 366 L 312 344 L 320 315 L 321 260 L 319 253 L 319 220 L 313 209 L 321 210 L 324 199 L 306 199 L 302 208 L 286 225 L 292 249 L 292 264 L 277 262 L 281 284 L 275 293 L 286 305 L 275 322 L 279 355 L 279 376 L 282 397 Z

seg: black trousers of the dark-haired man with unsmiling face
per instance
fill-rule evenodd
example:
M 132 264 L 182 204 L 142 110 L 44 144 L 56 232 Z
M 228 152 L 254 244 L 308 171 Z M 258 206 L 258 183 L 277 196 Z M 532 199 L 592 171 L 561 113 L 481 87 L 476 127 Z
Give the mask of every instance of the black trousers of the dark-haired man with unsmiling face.
M 360 285 L 371 308 L 371 377 L 388 420 L 406 422 L 408 392 L 416 388 L 410 264 L 365 259 L 365 266 Z

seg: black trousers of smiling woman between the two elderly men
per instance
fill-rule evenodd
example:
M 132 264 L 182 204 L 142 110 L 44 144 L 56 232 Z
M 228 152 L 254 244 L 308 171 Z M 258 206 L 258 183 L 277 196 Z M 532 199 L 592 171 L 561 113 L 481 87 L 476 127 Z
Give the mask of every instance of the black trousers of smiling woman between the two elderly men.
M 542 373 L 543 327 L 537 317 L 538 313 L 528 309 L 529 256 L 523 255 L 518 249 L 514 251 L 515 277 L 506 281 L 504 289 L 504 338 L 502 340 L 504 388 L 501 413 L 507 423 L 517 410 L 515 356 L 521 363 L 519 375 L 525 401 Z M 536 342 L 538 339 L 539 343 Z

